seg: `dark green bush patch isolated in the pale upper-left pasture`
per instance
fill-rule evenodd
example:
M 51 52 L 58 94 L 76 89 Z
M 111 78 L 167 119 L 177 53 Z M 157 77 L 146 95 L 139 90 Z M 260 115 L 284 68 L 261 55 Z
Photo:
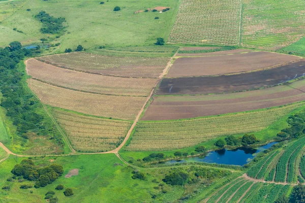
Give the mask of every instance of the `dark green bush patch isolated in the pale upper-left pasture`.
M 40 20 L 43 24 L 40 31 L 42 33 L 50 34 L 55 34 L 62 31 L 64 29 L 63 22 L 66 21 L 65 18 L 54 18 L 53 16 L 47 14 L 45 11 L 39 12 L 35 18 Z

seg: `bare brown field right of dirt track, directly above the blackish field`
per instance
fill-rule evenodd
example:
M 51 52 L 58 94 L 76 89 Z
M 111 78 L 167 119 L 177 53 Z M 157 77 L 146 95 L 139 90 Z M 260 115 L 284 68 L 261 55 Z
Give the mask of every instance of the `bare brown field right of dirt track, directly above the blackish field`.
M 231 50 L 232 51 L 232 50 Z M 223 56 L 177 58 L 166 77 L 223 75 L 263 69 L 299 59 L 271 52 L 248 52 Z

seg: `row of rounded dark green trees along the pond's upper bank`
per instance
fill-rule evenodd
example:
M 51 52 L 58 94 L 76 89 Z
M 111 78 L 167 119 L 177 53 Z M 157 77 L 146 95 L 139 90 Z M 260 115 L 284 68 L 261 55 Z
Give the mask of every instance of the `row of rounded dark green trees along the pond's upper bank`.
M 249 146 L 259 142 L 254 134 L 245 134 L 240 138 L 236 138 L 234 136 L 228 136 L 225 140 L 219 139 L 217 140 L 214 145 L 217 147 L 224 147 L 224 146 Z

